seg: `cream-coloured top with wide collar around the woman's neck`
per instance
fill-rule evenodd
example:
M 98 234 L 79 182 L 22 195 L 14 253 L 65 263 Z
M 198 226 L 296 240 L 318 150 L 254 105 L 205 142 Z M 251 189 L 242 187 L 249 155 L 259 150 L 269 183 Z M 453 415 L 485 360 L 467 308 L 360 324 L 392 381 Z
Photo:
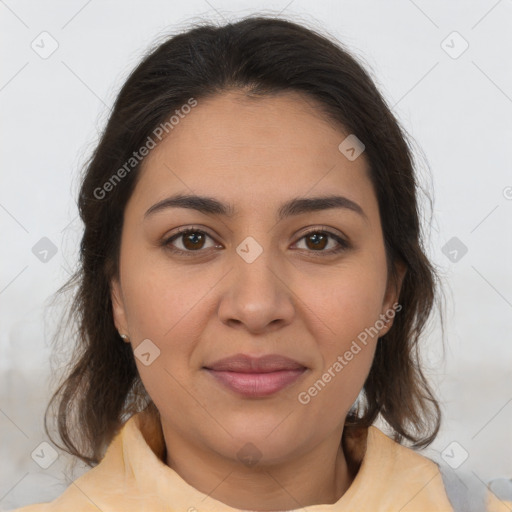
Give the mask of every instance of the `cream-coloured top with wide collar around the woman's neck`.
M 160 422 L 144 414 L 132 416 L 100 463 L 59 497 L 17 512 L 239 512 L 198 491 L 164 463 Z M 375 426 L 362 432 L 347 445 L 361 462 L 345 494 L 336 503 L 301 512 L 453 512 L 437 464 Z

